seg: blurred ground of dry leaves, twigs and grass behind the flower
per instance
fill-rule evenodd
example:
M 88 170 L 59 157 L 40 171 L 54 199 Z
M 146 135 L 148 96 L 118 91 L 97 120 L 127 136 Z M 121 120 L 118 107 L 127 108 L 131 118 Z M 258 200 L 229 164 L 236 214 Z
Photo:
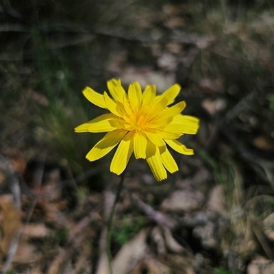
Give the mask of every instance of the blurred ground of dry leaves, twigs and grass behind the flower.
M 201 121 L 164 182 L 130 160 L 114 273 L 274 273 L 273 1 L 1 0 L 0 22 L 2 273 L 108 273 L 119 177 L 74 128 L 112 77 L 178 83 Z

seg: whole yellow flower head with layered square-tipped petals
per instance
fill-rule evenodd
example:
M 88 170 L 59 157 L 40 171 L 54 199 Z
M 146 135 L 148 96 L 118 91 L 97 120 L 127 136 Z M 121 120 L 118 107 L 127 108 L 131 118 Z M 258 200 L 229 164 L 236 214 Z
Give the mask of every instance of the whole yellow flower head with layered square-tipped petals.
M 178 171 L 166 144 L 179 153 L 192 155 L 193 150 L 176 139 L 183 134 L 196 134 L 199 128 L 199 119 L 181 114 L 186 107 L 184 101 L 168 107 L 180 86 L 175 84 L 156 96 L 153 85 L 142 92 L 138 82 L 134 82 L 129 85 L 128 93 L 120 80 L 111 79 L 107 85 L 113 99 L 107 92 L 101 95 L 88 87 L 83 91 L 88 101 L 110 111 L 75 128 L 75 132 L 108 132 L 86 158 L 98 160 L 119 144 L 110 164 L 110 171 L 117 175 L 125 170 L 133 152 L 136 159 L 147 160 L 158 181 L 166 179 L 166 169 L 170 173 Z

